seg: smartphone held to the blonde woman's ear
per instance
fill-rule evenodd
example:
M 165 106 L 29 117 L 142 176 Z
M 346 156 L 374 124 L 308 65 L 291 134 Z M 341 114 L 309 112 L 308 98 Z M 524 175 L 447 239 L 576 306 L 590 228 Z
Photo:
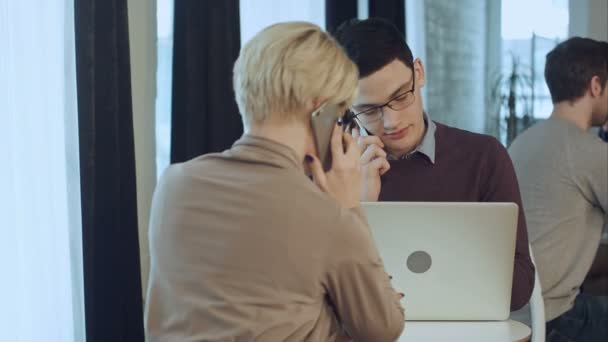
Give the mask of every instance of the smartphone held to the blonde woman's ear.
M 344 110 L 339 105 L 325 104 L 312 113 L 311 124 L 323 170 L 331 168 L 331 134 Z

